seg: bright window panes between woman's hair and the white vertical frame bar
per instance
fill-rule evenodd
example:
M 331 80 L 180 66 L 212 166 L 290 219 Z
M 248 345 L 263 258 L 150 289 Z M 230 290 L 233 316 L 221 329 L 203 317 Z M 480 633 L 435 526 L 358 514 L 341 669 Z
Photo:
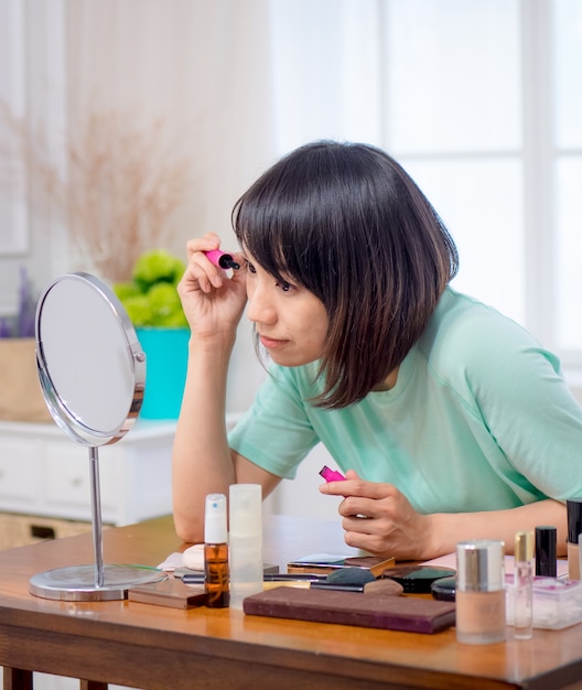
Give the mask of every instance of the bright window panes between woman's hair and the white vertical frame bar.
M 454 287 L 524 322 L 518 0 L 386 7 L 384 143 L 457 244 Z

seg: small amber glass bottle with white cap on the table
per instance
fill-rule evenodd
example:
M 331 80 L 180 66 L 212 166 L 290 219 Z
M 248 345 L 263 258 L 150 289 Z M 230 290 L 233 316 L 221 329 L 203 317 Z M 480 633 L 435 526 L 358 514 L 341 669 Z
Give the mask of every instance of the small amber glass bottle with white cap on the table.
M 228 532 L 226 496 L 208 494 L 204 514 L 204 587 L 206 606 L 224 608 L 230 602 L 228 587 Z

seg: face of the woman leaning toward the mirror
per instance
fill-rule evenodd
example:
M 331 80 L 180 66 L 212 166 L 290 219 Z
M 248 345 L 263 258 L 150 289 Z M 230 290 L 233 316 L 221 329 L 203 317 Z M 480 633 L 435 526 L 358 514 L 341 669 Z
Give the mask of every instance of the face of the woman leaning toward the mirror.
M 319 359 L 327 334 L 323 302 L 291 279 L 279 282 L 246 252 L 247 315 L 273 362 L 297 367 Z

